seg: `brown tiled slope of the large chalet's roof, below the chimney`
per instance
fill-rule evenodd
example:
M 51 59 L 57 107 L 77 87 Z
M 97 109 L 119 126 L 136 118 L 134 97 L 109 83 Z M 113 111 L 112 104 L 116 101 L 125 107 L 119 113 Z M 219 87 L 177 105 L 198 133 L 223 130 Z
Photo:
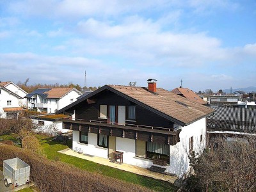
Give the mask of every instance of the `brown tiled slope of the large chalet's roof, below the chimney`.
M 176 95 L 163 88 L 157 88 L 156 94 L 153 94 L 148 92 L 147 88 L 143 87 L 109 86 L 184 124 L 191 124 L 214 112 L 211 108 Z

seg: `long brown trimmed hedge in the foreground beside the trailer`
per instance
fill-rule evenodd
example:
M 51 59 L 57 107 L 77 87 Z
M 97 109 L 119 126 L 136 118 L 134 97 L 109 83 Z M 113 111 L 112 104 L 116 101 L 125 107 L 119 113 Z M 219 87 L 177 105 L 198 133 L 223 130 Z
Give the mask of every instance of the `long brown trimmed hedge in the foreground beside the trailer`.
M 31 166 L 30 179 L 42 191 L 150 191 L 150 189 L 113 179 L 99 173 L 86 172 L 29 150 L 0 144 L 0 166 L 5 159 L 19 157 Z

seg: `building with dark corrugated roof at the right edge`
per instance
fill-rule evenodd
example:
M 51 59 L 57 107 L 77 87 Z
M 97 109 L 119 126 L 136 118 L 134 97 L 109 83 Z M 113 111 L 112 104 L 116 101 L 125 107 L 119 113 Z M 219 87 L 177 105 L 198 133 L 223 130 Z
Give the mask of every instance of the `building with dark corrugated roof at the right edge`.
M 215 113 L 207 116 L 207 134 L 234 137 L 243 134 L 256 135 L 256 108 L 212 107 Z

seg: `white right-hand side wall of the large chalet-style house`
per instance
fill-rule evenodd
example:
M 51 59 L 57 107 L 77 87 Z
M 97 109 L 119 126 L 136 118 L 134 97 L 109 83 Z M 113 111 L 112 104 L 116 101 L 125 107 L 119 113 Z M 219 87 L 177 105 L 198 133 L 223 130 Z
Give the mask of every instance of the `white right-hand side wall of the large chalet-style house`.
M 189 170 L 189 138 L 193 136 L 193 150 L 202 152 L 205 147 L 206 120 L 202 118 L 193 124 L 182 127 L 180 132 L 180 142 L 176 145 L 170 145 L 170 166 L 167 171 L 175 173 L 182 177 Z M 203 135 L 203 141 L 200 142 L 200 136 Z

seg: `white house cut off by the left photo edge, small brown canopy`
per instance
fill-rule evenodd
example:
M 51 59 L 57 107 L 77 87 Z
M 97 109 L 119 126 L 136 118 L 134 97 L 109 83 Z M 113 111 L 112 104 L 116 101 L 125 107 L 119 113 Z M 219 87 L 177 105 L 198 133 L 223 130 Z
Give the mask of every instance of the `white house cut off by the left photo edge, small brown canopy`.
M 20 111 L 19 100 L 22 99 L 16 93 L 0 86 L 0 118 L 17 118 Z

